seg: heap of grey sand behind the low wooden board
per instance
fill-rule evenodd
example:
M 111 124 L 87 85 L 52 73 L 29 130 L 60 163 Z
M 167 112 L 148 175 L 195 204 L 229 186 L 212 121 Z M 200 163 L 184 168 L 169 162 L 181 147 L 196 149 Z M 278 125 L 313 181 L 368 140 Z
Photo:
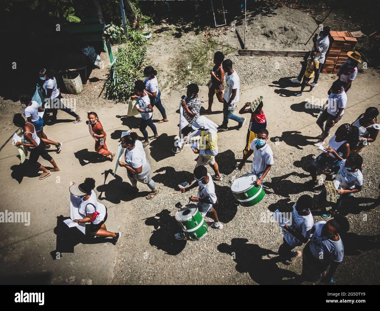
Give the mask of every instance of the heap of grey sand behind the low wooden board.
M 306 46 L 304 43 L 317 26 L 313 17 L 301 11 L 263 1 L 247 1 L 245 46 L 261 50 L 310 50 L 312 40 Z M 244 42 L 244 7 L 236 20 L 236 32 Z

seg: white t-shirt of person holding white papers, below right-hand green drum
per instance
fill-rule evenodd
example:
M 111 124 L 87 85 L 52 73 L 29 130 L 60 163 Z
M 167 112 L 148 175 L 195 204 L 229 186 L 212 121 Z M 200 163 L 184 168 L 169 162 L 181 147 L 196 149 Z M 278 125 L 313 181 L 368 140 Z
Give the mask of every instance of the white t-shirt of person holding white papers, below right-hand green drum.
M 291 225 L 289 228 L 291 228 L 296 233 L 300 233 L 305 238 L 310 238 L 310 231 L 313 227 L 313 224 L 313 215 L 310 213 L 307 216 L 299 216 L 298 211 L 296 211 L 296 203 L 294 203 Z M 302 245 L 302 242 L 300 240 L 298 240 L 294 235 L 292 235 L 284 228 L 282 228 L 282 233 L 284 235 L 285 241 L 287 241 L 290 246 L 296 247 Z

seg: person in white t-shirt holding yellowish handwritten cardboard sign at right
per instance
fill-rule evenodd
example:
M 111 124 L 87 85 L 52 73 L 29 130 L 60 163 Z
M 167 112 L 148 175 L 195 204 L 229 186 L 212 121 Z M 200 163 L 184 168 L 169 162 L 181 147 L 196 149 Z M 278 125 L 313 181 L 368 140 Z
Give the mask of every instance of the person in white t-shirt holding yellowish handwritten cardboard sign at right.
M 363 173 L 361 172 L 361 166 L 363 164 L 363 158 L 359 154 L 349 155 L 347 159 L 340 161 L 339 171 L 337 172 L 334 180 L 339 181 L 337 202 L 331 202 L 332 208 L 330 211 L 322 214 L 323 218 L 333 217 L 337 210 L 340 209 L 343 200 L 350 197 L 353 193 L 358 193 L 363 188 Z M 313 211 L 321 211 L 322 205 L 326 202 L 326 189 L 323 189 L 318 195 L 317 205 L 313 206 Z

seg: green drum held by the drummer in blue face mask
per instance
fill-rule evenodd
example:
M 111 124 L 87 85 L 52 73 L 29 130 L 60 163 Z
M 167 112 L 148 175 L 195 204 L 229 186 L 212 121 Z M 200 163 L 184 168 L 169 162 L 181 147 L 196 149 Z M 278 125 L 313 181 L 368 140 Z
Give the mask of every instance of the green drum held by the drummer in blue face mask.
M 263 200 L 265 191 L 262 187 L 255 186 L 257 176 L 255 174 L 243 175 L 233 182 L 231 191 L 242 206 L 253 206 Z

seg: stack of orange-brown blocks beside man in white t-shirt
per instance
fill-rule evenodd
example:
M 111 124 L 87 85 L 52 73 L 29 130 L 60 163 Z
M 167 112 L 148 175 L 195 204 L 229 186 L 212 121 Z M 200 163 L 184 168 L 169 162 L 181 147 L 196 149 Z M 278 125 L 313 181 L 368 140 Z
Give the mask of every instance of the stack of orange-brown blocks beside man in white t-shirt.
M 347 60 L 347 52 L 354 50 L 358 40 L 347 31 L 330 31 L 329 40 L 330 47 L 322 72 L 338 73 L 339 67 Z

